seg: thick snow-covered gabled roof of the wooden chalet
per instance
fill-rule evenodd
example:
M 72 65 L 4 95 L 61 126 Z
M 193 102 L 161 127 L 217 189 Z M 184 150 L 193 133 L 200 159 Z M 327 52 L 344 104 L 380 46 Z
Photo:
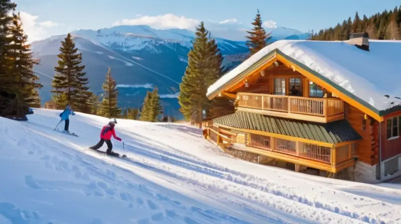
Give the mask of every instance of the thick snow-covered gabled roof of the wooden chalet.
M 207 95 L 211 95 L 276 49 L 327 77 L 378 111 L 401 103 L 400 99 L 394 98 L 401 97 L 399 40 L 370 39 L 370 51 L 343 41 L 279 40 L 264 47 L 222 76 L 208 88 Z

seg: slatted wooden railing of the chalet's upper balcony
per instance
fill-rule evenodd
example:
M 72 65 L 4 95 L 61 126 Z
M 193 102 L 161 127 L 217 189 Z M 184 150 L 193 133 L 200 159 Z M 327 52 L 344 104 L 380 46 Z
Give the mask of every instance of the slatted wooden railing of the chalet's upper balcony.
M 261 93 L 237 93 L 238 106 L 277 112 L 330 117 L 344 113 L 344 102 L 339 98 L 311 98 Z

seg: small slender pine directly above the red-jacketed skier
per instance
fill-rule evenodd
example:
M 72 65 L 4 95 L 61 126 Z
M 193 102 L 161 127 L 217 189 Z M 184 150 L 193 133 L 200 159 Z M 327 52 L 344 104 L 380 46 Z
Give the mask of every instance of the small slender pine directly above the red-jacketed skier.
M 111 68 L 109 67 L 106 80 L 104 81 L 102 88 L 104 90 L 103 100 L 100 103 L 100 114 L 106 117 L 117 117 L 121 114 L 121 109 L 118 107 L 117 97 L 118 90 L 116 81 L 111 75 Z

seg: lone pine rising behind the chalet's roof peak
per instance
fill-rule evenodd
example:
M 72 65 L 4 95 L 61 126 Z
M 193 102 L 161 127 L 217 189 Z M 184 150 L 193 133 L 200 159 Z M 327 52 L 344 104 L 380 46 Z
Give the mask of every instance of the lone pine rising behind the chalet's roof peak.
M 265 47 L 267 45 L 267 41 L 272 38 L 270 36 L 271 33 L 266 33 L 265 28 L 262 26 L 263 24 L 259 9 L 257 10 L 258 12 L 254 19 L 254 22 L 252 22 L 252 25 L 254 25 L 254 27 L 252 28 L 252 31 L 247 31 L 250 35 L 245 36 L 249 39 L 247 40 L 246 44 L 249 47 L 250 56 Z

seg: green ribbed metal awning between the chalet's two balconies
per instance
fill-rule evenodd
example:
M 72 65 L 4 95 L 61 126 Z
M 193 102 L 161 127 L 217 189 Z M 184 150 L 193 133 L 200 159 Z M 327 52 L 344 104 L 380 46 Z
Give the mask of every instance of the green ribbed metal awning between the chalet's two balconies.
M 237 111 L 233 114 L 215 118 L 213 119 L 213 123 L 333 144 L 362 139 L 346 119 L 329 123 L 317 123 Z

